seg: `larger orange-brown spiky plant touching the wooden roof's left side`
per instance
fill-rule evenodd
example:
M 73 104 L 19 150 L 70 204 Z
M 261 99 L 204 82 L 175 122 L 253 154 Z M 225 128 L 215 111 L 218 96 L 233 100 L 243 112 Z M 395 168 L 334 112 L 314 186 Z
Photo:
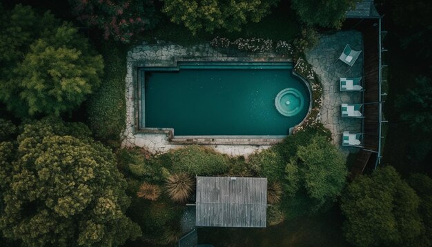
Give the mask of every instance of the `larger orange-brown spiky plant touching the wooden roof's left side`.
M 166 192 L 173 201 L 183 202 L 193 191 L 193 178 L 187 173 L 173 174 L 166 179 Z

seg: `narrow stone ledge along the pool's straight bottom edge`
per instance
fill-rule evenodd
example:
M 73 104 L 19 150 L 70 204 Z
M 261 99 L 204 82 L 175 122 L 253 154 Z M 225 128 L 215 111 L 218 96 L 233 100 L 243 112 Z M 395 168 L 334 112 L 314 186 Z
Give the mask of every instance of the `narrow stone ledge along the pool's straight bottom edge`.
M 206 145 L 257 145 L 270 146 L 281 142 L 283 138 L 212 138 L 212 137 L 174 137 L 173 144 L 206 144 Z

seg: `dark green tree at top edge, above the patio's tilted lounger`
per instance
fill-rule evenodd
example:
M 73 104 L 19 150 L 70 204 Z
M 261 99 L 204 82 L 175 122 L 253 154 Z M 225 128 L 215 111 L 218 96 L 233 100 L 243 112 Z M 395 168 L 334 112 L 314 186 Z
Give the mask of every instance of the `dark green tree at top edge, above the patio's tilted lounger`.
M 301 21 L 309 26 L 340 28 L 345 12 L 355 7 L 360 0 L 292 0 L 293 8 Z

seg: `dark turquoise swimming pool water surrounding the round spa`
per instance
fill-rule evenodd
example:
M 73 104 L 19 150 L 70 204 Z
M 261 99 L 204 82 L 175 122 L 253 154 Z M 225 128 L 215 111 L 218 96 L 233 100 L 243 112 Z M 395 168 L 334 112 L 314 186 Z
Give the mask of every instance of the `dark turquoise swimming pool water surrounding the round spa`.
M 142 69 L 141 123 L 145 128 L 174 128 L 176 136 L 288 135 L 310 104 L 308 88 L 292 69 L 291 63 L 190 62 Z M 286 88 L 304 100 L 289 117 L 275 106 L 276 96 Z M 283 100 L 287 107 L 290 102 Z

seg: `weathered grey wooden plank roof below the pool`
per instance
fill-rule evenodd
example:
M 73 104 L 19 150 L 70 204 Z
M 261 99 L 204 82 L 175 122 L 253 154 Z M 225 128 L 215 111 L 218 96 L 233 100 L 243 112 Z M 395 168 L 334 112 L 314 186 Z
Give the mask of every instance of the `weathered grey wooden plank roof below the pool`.
M 267 179 L 197 177 L 196 226 L 266 227 Z

